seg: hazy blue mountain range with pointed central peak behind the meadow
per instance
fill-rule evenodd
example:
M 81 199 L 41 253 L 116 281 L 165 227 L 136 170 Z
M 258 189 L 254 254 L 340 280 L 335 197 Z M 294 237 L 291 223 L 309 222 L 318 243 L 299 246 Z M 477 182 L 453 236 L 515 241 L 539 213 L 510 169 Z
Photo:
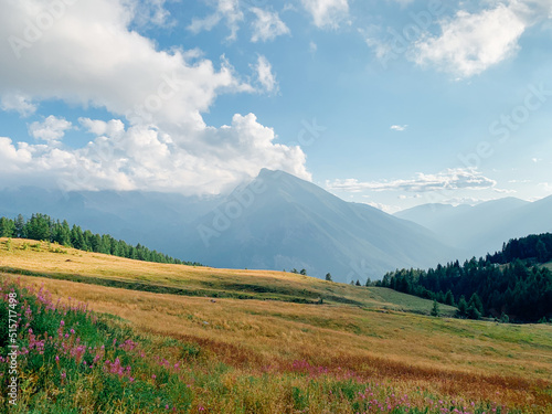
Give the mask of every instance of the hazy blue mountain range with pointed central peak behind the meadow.
M 263 169 L 227 195 L 39 188 L 0 191 L 0 215 L 45 213 L 184 261 L 291 270 L 336 282 L 381 278 L 499 250 L 552 230 L 552 198 L 477 206 L 427 204 L 390 215 L 314 183 Z

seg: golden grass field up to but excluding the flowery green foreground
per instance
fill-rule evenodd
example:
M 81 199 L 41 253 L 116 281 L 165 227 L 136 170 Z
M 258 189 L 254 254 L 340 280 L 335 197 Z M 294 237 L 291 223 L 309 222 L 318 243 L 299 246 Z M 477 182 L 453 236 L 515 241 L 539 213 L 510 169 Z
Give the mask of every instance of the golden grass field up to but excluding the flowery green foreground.
M 24 243 L 34 247 L 23 250 Z M 54 297 L 87 302 L 95 311 L 129 321 L 138 332 L 197 343 L 211 359 L 250 373 L 261 374 L 267 367 L 285 371 L 293 361 L 307 360 L 378 378 L 399 390 L 420 388 L 552 412 L 550 325 L 434 318 L 423 315 L 432 308 L 428 300 L 288 273 L 162 265 L 65 247 L 66 253 L 53 253 L 55 246 L 39 247 L 32 241 L 11 244 L 9 250 L 7 240 L 0 240 L 2 278 L 43 284 Z M 33 275 L 18 275 L 24 272 Z M 75 275 L 195 293 L 71 282 Z M 219 291 L 250 296 L 213 298 Z M 319 297 L 321 305 L 288 300 Z

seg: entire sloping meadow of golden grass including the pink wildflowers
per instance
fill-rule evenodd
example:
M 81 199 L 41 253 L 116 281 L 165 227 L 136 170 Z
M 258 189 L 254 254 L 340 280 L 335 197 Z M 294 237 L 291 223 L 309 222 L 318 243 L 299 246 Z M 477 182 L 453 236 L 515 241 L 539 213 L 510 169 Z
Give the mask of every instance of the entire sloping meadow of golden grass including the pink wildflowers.
M 0 240 L 0 278 L 3 308 L 10 289 L 21 298 L 28 352 L 4 412 L 552 412 L 550 325 L 452 319 L 445 306 L 435 318 L 432 301 L 385 288 L 20 240 Z

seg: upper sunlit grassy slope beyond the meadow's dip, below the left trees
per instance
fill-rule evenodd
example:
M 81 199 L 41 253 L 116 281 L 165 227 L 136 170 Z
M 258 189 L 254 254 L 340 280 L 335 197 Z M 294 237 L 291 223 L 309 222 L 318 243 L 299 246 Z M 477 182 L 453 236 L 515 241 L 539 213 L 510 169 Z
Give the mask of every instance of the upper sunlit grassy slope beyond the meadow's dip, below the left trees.
M 41 247 L 21 250 L 24 243 L 13 240 L 11 252 L 3 246 L 0 269 L 31 273 L 57 279 L 94 283 L 103 286 L 187 296 L 274 299 L 282 301 L 349 304 L 369 308 L 407 310 L 429 314 L 433 302 L 385 288 L 353 287 L 328 283 L 315 277 L 283 272 L 217 269 L 146 263 L 98 253 L 85 253 L 62 247 L 63 254 L 52 253 L 59 246 L 41 243 Z M 442 306 L 443 315 L 455 308 Z

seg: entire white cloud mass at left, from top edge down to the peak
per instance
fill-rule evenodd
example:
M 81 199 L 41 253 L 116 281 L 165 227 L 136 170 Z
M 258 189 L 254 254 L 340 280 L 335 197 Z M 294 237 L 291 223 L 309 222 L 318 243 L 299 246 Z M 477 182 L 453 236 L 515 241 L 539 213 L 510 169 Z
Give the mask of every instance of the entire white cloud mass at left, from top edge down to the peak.
M 0 42 L 0 97 L 17 94 L 28 104 L 59 99 L 83 108 L 81 131 L 93 138 L 83 148 L 65 148 L 61 139 L 72 126 L 55 115 L 29 128 L 42 142 L 4 137 L 2 182 L 215 193 L 264 167 L 310 178 L 301 149 L 277 144 L 254 115 L 208 126 L 202 113 L 220 94 L 258 88 L 241 81 L 224 57 L 215 64 L 198 50 L 158 50 L 130 29 L 132 4 L 79 0 L 54 13 L 51 3 L 39 0 L 3 3 L 0 38 L 9 41 Z M 219 2 L 226 14 L 236 4 Z M 30 36 L 28 25 L 38 15 L 51 15 L 52 24 Z M 268 61 L 259 57 L 255 67 L 258 84 L 275 92 Z M 104 108 L 115 119 L 87 118 L 88 107 Z

